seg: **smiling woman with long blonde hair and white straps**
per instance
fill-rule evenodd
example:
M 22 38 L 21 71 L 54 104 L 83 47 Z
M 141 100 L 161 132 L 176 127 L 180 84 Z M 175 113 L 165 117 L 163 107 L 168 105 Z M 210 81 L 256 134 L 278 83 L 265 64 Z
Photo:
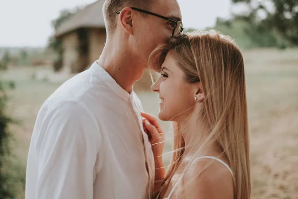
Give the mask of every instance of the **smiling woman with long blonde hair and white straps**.
M 174 127 L 165 174 L 163 132 L 155 117 L 142 113 L 155 158 L 154 198 L 249 199 L 244 64 L 237 45 L 217 31 L 196 31 L 172 38 L 151 57 L 162 63 L 151 87 L 159 94 L 158 117 Z

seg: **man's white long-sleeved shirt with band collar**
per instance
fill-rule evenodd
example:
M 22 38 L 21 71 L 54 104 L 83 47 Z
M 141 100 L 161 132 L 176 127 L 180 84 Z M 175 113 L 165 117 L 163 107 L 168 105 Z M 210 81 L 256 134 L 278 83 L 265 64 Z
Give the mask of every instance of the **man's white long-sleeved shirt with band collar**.
M 26 199 L 148 199 L 151 145 L 137 95 L 96 62 L 42 105 L 26 173 Z

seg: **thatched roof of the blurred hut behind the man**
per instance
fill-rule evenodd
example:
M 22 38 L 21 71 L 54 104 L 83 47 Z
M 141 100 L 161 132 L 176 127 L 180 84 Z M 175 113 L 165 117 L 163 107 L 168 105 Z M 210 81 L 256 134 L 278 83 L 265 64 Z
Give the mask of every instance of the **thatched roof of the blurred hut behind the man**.
M 84 9 L 76 12 L 70 19 L 66 20 L 56 31 L 55 36 L 59 37 L 70 31 L 82 27 L 104 28 L 104 20 L 102 14 L 102 5 L 104 0 L 97 0 L 87 5 Z

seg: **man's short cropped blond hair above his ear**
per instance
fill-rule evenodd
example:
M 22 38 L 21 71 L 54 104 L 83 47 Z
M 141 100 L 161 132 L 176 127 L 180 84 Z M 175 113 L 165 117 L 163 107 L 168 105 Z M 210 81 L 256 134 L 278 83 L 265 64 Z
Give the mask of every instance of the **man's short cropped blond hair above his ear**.
M 149 10 L 153 0 L 105 0 L 102 12 L 108 34 L 113 34 L 116 30 L 116 11 L 124 7 L 137 7 Z

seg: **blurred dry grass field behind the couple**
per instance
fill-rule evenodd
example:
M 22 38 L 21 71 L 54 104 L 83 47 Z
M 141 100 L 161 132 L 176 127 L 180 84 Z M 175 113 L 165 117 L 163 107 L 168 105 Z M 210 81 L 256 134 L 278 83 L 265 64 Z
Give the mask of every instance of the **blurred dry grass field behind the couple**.
M 253 199 L 298 199 L 298 49 L 254 49 L 243 54 Z M 7 90 L 7 113 L 17 123 L 10 125 L 13 139 L 5 171 L 12 176 L 11 189 L 18 193 L 18 199 L 24 198 L 25 165 L 36 115 L 43 101 L 62 83 L 36 80 L 38 70 L 51 68 L 16 67 L 0 74 L 1 81 L 16 84 L 15 89 Z M 150 91 L 137 93 L 145 111 L 157 115 L 157 95 Z M 167 122 L 162 125 L 168 129 Z M 171 150 L 171 136 L 166 136 L 165 152 Z M 166 163 L 169 157 L 165 155 Z

